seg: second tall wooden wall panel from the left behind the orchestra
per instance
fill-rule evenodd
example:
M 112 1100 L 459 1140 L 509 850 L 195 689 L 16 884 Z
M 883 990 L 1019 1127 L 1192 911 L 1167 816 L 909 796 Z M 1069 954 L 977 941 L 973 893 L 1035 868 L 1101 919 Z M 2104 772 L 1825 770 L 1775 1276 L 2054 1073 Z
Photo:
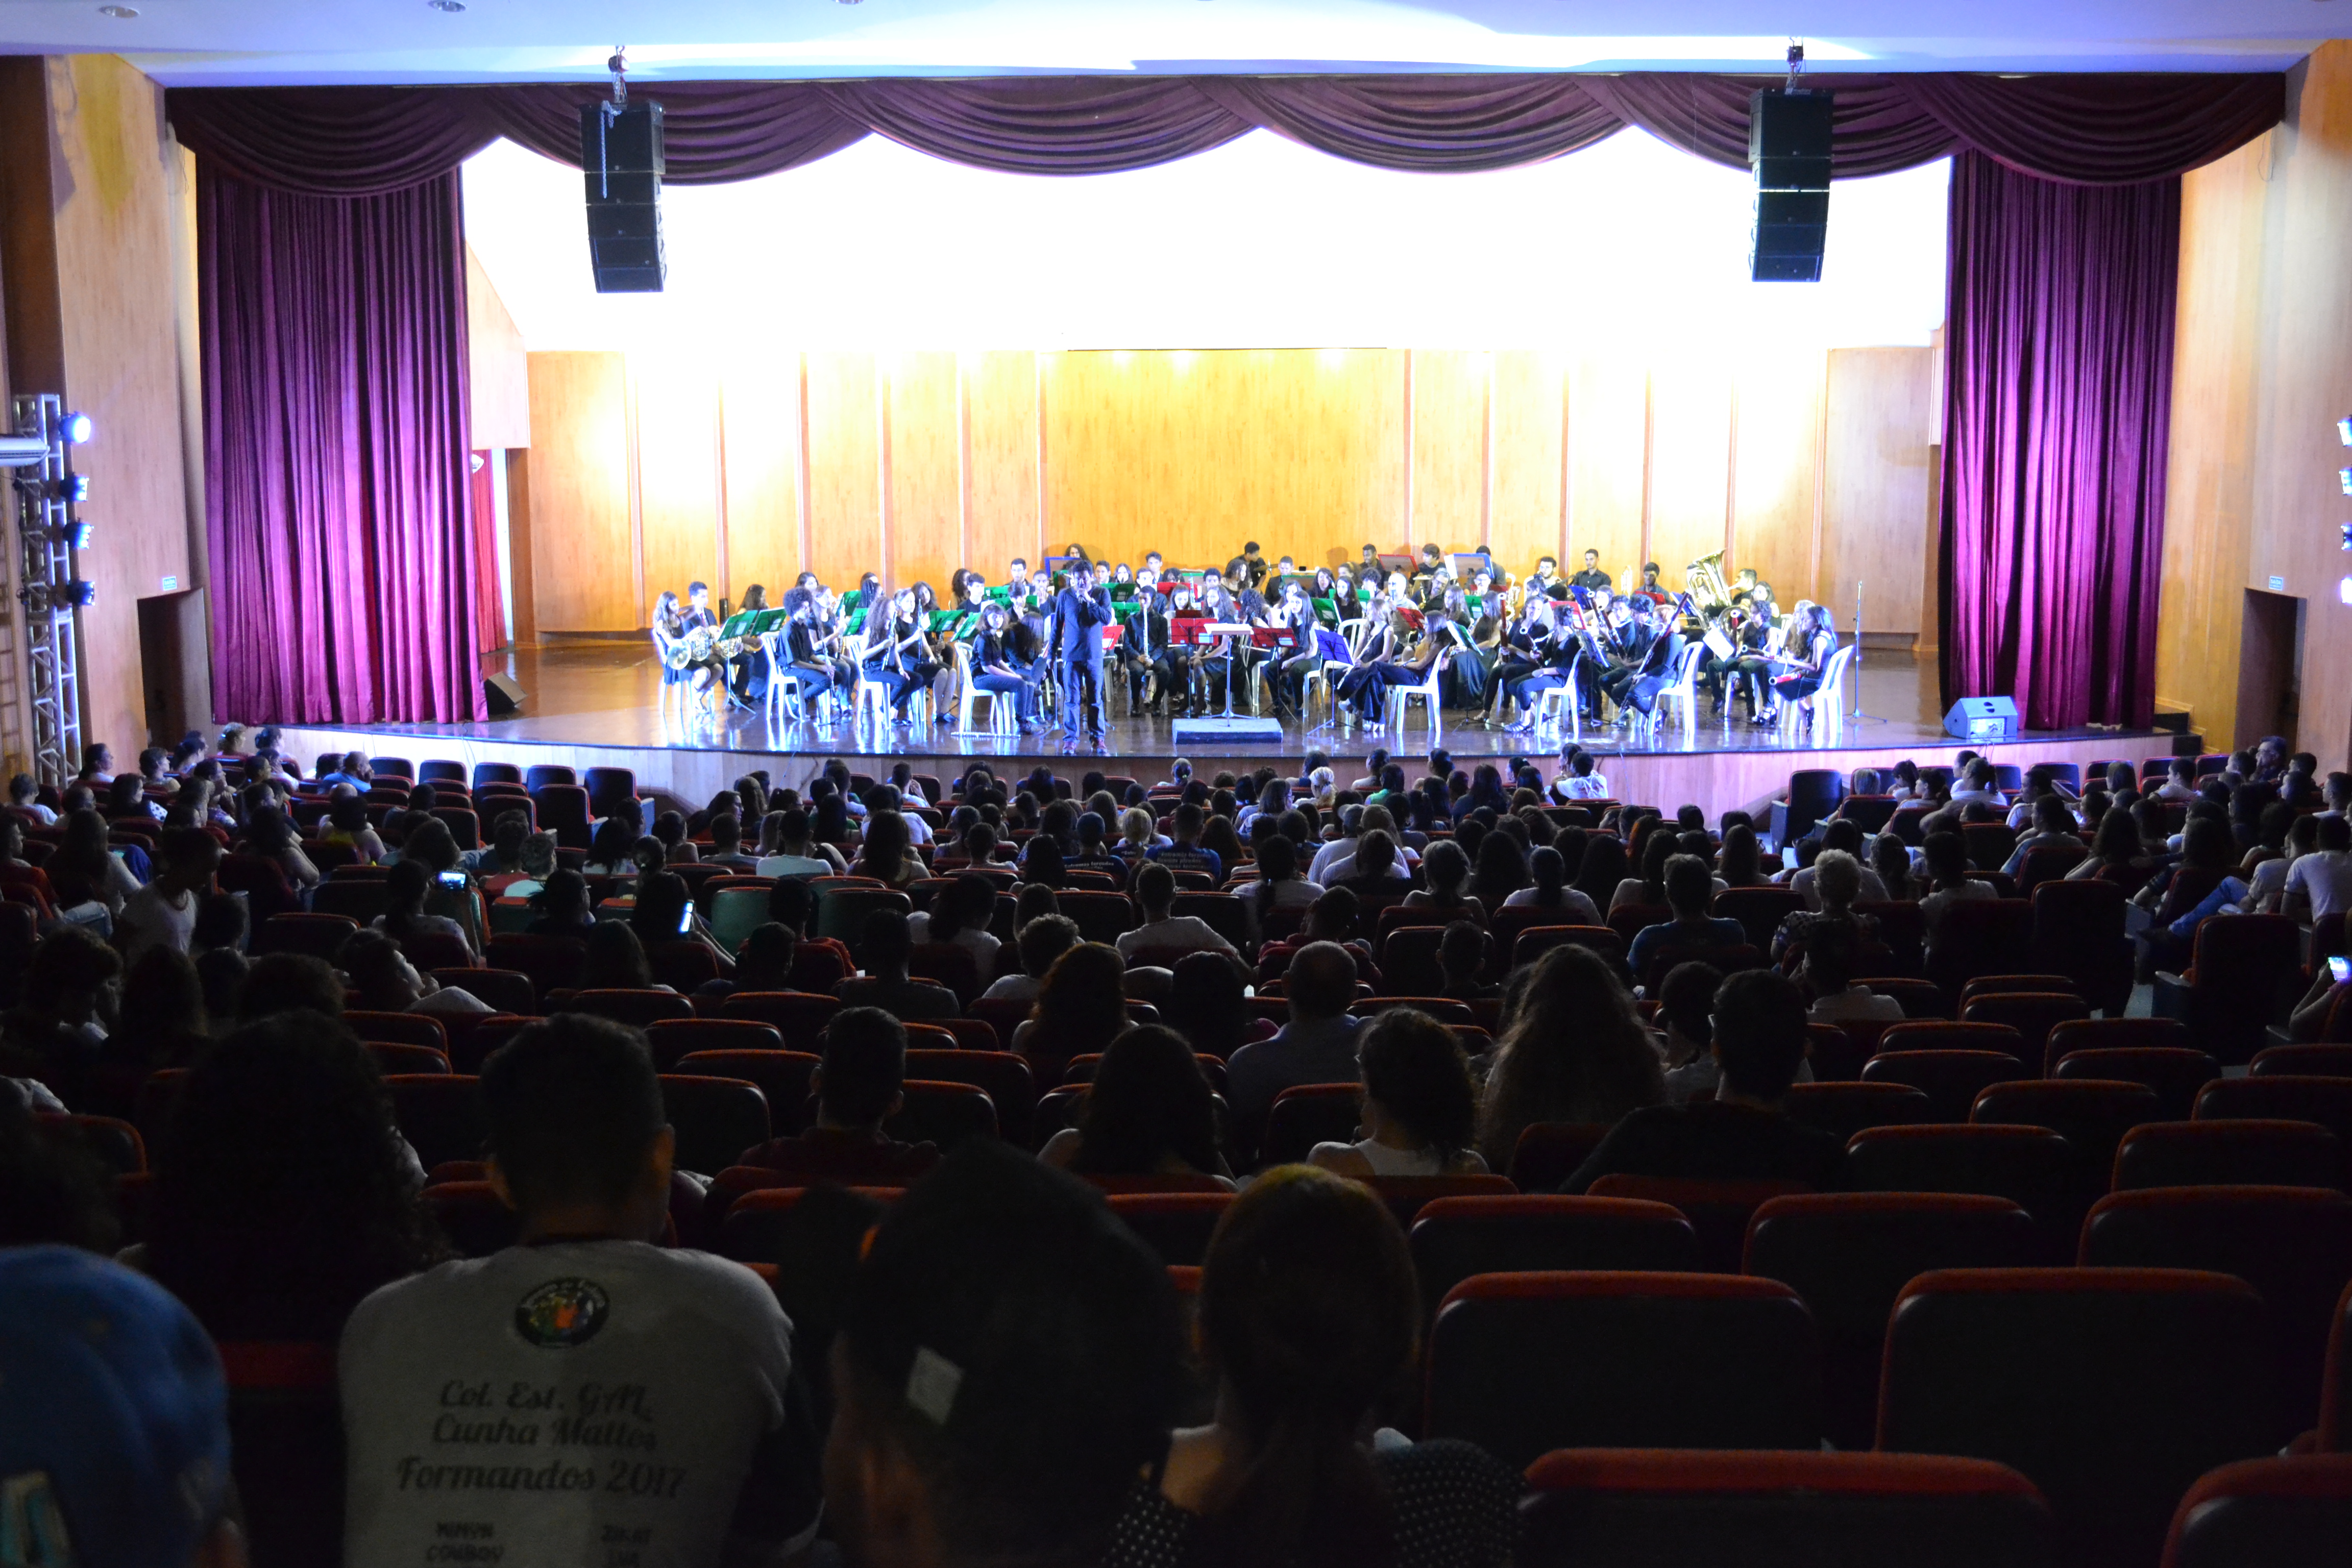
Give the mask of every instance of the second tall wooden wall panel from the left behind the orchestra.
M 637 527 L 644 536 L 644 604 L 637 625 L 652 625 L 654 599 L 663 590 L 684 599 L 689 583 L 710 583 L 710 604 L 717 609 L 720 597 L 734 599 L 753 578 L 720 571 L 715 371 L 663 355 L 633 355 L 628 369 L 630 395 L 637 400 Z

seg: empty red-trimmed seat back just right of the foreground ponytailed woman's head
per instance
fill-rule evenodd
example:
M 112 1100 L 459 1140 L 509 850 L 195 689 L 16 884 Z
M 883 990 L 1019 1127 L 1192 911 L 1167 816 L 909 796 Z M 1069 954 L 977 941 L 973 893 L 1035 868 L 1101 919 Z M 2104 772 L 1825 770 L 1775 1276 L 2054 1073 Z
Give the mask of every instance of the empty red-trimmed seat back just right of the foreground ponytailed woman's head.
M 1477 1274 L 1430 1328 L 1423 1425 L 1524 1467 L 1552 1448 L 1818 1448 L 1813 1319 L 1733 1274 Z

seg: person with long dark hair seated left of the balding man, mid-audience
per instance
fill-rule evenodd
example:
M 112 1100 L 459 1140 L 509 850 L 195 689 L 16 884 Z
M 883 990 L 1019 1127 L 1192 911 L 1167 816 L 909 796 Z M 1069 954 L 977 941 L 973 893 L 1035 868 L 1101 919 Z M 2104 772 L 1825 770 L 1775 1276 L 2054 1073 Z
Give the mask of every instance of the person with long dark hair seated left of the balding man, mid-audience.
M 1110 1041 L 1077 1126 L 1054 1133 L 1037 1159 L 1080 1175 L 1214 1175 L 1232 1185 L 1209 1079 L 1192 1044 L 1160 1025 Z

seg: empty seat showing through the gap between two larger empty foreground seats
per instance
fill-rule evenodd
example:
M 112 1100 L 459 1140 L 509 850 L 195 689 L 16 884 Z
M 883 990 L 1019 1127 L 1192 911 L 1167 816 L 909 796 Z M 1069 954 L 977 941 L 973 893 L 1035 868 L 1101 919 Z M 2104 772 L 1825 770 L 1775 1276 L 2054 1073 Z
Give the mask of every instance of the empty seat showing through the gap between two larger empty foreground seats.
M 1879 1354 L 1896 1298 L 1931 1269 L 2037 1260 L 2032 1215 L 1973 1192 L 1813 1192 L 1771 1199 L 1748 1222 L 1745 1272 L 1778 1279 L 1820 1331 L 1823 1422 L 1839 1448 L 1867 1448 Z

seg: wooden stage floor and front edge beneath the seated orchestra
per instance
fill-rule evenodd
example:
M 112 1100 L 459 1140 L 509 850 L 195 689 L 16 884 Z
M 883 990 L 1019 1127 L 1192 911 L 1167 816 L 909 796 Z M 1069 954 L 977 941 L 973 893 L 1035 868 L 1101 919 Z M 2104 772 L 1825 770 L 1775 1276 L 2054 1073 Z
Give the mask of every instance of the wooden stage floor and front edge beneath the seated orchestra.
M 1169 762 L 1190 757 L 1202 776 L 1218 769 L 1244 771 L 1268 762 L 1296 759 L 1324 750 L 1355 778 L 1364 752 L 1385 745 L 1402 757 L 1421 757 L 1430 745 L 1444 745 L 1461 766 L 1482 759 L 1529 757 L 1545 773 L 1566 729 L 1557 733 L 1484 729 L 1461 715 L 1444 715 L 1435 738 L 1418 705 L 1402 731 L 1367 736 L 1345 733 L 1338 724 L 1308 731 L 1287 726 L 1277 743 L 1225 743 L 1178 750 L 1171 722 L 1148 715 L 1127 717 L 1124 693 L 1110 696 L 1110 757 L 1089 752 L 1065 759 L 1061 733 L 957 733 L 950 726 L 875 729 L 873 724 L 769 722 L 760 712 L 736 712 L 710 724 L 680 724 L 675 708 L 666 717 L 659 703 L 659 668 L 652 642 L 560 639 L 536 646 L 501 649 L 482 661 L 485 675 L 515 679 L 524 696 L 522 712 L 477 724 L 374 724 L 360 729 L 287 724 L 282 750 L 310 771 L 318 752 L 365 750 L 376 757 L 416 762 L 449 757 L 468 769 L 475 762 L 564 762 L 572 766 L 626 766 L 640 788 L 668 790 L 687 802 L 703 802 L 753 769 L 767 769 L 776 783 L 797 783 L 814 759 L 847 757 L 858 771 L 877 771 L 873 762 L 906 759 L 917 773 L 941 778 L 957 773 L 974 757 L 1002 759 L 1007 769 L 1028 771 L 1037 762 L 1056 769 L 1103 769 L 1152 783 L 1167 776 Z M 1696 731 L 1679 719 L 1668 722 L 1656 743 L 1623 729 L 1585 729 L 1581 745 L 1602 762 L 1618 799 L 1679 806 L 1696 802 L 1710 816 L 1752 806 L 1788 783 L 1795 769 L 1886 766 L 1915 762 L 1950 762 L 1962 750 L 1943 733 L 1933 663 L 1917 661 L 1907 649 L 1865 646 L 1858 670 L 1860 715 L 1828 726 L 1820 743 L 1806 743 L 1802 731 L 1790 738 L 1778 729 L 1752 729 L 1738 717 L 1729 724 L 1708 717 L 1698 705 Z M 1733 710 L 1736 715 L 1738 710 Z M 953 717 L 953 715 L 950 715 Z M 249 722 L 268 722 L 252 715 Z M 983 719 L 985 722 L 985 719 Z M 2124 757 L 2161 757 L 2173 748 L 2164 731 L 2049 731 L 2018 741 L 1978 745 L 2002 762 L 2072 762 L 2077 766 Z

